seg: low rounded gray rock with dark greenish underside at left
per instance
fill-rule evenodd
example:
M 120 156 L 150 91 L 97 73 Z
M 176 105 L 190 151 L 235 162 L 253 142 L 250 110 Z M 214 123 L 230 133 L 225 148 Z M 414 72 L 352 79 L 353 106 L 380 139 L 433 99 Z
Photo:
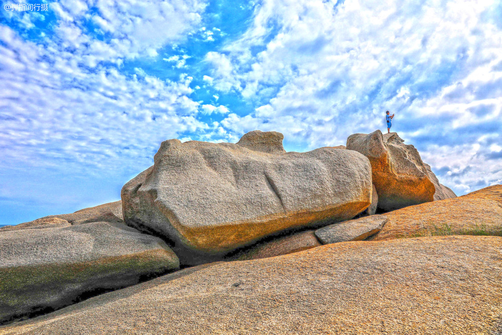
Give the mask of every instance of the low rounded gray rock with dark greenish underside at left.
M 179 268 L 159 238 L 110 222 L 0 232 L 0 323 Z

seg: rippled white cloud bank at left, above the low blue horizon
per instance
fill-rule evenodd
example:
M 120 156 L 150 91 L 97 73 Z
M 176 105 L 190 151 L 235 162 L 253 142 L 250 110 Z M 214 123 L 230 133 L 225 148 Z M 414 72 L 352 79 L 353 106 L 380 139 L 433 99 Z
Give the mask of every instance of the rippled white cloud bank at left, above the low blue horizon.
M 171 82 L 140 68 L 132 78 L 113 67 L 86 70 L 5 26 L 0 38 L 3 169 L 57 168 L 60 160 L 74 173 L 112 173 L 117 164 L 150 164 L 145 152 L 165 139 L 211 128 L 197 120 L 199 103 L 187 97 L 191 77 Z

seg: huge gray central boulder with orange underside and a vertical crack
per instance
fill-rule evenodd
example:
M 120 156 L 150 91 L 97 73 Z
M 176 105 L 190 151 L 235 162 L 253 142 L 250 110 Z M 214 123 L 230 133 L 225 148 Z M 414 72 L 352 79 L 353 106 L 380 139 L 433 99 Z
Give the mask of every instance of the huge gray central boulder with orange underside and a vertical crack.
M 259 131 L 237 144 L 163 142 L 154 166 L 122 188 L 126 224 L 171 241 L 181 263 L 193 265 L 369 206 L 364 156 L 333 148 L 286 153 L 281 142 L 282 134 Z

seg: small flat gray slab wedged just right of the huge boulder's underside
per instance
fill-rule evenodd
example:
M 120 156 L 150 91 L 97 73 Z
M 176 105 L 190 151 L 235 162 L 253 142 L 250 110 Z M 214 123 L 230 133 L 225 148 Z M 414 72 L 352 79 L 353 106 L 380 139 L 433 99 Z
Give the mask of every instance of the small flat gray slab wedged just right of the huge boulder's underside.
M 387 221 L 385 215 L 365 216 L 320 228 L 315 231 L 315 236 L 322 244 L 362 241 L 380 232 Z

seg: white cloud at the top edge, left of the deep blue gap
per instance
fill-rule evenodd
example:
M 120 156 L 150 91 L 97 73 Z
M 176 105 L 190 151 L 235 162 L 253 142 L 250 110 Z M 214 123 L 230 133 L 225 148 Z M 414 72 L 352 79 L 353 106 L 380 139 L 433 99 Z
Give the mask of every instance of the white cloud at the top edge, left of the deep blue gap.
M 83 18 L 90 17 L 94 24 L 108 34 L 103 43 L 103 47 L 110 49 L 108 54 L 113 53 L 115 58 L 136 58 L 157 56 L 159 48 L 183 38 L 184 34 L 200 23 L 206 4 L 202 0 L 66 0 L 51 3 L 50 7 L 59 19 L 59 31 L 69 32 L 75 25 L 83 25 Z M 68 34 L 65 37 L 63 46 L 71 36 Z M 89 51 L 85 48 L 76 50 L 80 55 L 86 55 Z M 96 61 L 117 61 L 91 56 Z

